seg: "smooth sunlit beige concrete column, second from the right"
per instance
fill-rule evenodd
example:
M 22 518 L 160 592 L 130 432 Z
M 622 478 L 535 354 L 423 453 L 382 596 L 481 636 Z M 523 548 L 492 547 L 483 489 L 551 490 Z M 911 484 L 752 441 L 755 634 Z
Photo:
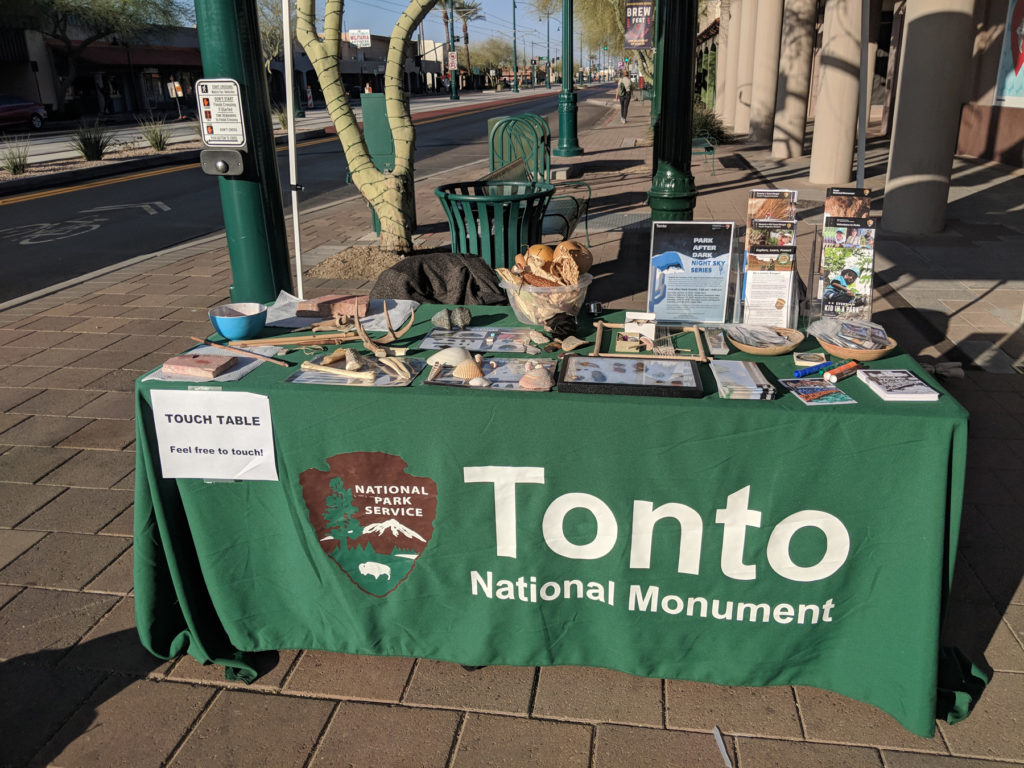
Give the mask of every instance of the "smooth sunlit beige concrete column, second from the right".
M 809 179 L 847 184 L 853 178 L 860 85 L 860 11 L 863 0 L 827 0 L 821 36 L 821 79 L 814 108 Z

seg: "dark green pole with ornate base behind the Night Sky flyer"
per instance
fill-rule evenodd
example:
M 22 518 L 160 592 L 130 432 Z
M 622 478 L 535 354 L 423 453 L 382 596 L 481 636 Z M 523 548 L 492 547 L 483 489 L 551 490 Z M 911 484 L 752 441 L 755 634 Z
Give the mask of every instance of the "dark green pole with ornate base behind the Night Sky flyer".
M 659 92 L 654 123 L 654 178 L 647 193 L 654 221 L 693 218 L 696 187 L 690 172 L 693 124 L 693 58 L 697 0 L 657 0 L 654 13 L 654 87 Z M 667 41 L 672 40 L 672 55 Z

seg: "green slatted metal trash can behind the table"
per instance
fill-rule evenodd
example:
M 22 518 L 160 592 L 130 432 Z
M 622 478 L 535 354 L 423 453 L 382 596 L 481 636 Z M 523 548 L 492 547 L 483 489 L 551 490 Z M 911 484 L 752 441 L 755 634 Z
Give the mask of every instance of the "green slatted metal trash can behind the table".
M 434 189 L 447 216 L 452 253 L 479 256 L 492 268 L 511 267 L 515 255 L 542 240 L 552 184 L 464 181 Z

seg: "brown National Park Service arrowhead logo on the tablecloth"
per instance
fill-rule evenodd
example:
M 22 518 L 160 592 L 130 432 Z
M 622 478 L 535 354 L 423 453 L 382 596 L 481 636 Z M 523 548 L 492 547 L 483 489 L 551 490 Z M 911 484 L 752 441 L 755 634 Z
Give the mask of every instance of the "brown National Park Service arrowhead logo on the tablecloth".
M 410 475 L 401 457 L 390 454 L 340 454 L 327 465 L 299 475 L 309 522 L 345 575 L 384 597 L 412 572 L 433 536 L 437 484 Z

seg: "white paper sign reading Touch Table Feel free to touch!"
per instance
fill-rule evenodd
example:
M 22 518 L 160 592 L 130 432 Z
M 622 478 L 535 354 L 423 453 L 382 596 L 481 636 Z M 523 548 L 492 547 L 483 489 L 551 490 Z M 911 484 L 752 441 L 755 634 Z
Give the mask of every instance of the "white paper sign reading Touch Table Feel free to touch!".
M 178 389 L 150 395 L 164 477 L 278 479 L 266 395 Z

